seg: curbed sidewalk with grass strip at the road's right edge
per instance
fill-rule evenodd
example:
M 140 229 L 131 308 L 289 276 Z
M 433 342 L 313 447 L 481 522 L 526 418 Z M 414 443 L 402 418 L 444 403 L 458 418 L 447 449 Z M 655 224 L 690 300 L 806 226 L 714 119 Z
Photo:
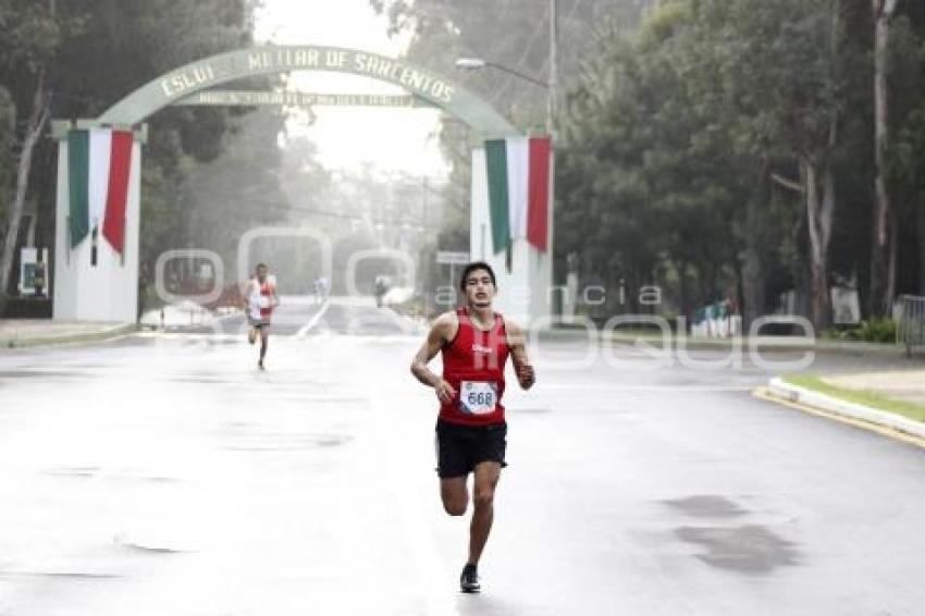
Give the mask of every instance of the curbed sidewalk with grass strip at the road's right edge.
M 899 432 L 925 446 L 925 370 L 784 377 L 758 395 Z

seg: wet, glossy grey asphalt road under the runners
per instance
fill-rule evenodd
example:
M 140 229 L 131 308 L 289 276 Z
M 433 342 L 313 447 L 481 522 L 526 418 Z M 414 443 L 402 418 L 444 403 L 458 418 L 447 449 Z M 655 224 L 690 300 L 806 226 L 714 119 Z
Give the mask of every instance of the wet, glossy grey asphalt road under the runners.
M 577 342 L 509 390 L 461 595 L 422 334 L 285 310 L 267 372 L 234 321 L 0 355 L 0 615 L 922 614 L 923 449 L 753 398 L 770 367 Z

